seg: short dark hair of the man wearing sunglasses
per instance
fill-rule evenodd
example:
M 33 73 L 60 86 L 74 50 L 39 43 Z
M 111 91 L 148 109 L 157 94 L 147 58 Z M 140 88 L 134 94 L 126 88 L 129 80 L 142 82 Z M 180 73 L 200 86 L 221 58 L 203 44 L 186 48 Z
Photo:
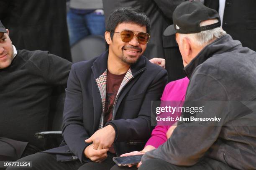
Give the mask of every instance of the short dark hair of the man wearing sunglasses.
M 113 39 L 116 26 L 120 23 L 135 23 L 140 26 L 146 26 L 147 33 L 150 31 L 150 21 L 147 15 L 137 8 L 118 8 L 109 15 L 106 31 L 110 32 L 111 39 Z

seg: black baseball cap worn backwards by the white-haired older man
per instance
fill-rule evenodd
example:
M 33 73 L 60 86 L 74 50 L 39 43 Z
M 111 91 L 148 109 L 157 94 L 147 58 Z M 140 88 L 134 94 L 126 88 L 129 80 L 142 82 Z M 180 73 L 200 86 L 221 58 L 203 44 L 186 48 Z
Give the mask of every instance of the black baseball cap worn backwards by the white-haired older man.
M 209 19 L 218 19 L 218 23 L 201 26 L 200 22 Z M 164 30 L 164 36 L 175 33 L 199 33 L 220 27 L 220 15 L 214 9 L 208 8 L 199 1 L 186 1 L 177 6 L 172 15 L 173 25 Z

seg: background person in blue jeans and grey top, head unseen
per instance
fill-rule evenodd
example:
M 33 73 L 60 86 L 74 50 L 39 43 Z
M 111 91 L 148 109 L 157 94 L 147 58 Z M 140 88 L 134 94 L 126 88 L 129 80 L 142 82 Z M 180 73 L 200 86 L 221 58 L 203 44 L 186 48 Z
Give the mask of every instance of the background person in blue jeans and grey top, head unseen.
M 70 0 L 67 24 L 70 46 L 89 35 L 105 33 L 102 0 Z

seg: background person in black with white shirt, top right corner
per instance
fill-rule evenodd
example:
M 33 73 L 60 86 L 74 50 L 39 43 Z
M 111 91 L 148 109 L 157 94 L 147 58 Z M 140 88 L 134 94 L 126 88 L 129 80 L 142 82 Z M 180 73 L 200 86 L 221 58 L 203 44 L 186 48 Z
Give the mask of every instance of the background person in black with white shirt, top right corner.
M 234 40 L 256 51 L 256 0 L 204 0 L 204 5 L 219 12 L 223 30 Z

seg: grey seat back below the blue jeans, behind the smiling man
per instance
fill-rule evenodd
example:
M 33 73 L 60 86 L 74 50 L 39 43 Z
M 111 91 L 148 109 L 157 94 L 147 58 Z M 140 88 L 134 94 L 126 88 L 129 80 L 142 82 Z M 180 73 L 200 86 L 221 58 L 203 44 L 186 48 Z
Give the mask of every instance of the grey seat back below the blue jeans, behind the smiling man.
M 71 47 L 73 63 L 90 60 L 106 50 L 105 38 L 100 35 L 90 35 L 78 41 Z

